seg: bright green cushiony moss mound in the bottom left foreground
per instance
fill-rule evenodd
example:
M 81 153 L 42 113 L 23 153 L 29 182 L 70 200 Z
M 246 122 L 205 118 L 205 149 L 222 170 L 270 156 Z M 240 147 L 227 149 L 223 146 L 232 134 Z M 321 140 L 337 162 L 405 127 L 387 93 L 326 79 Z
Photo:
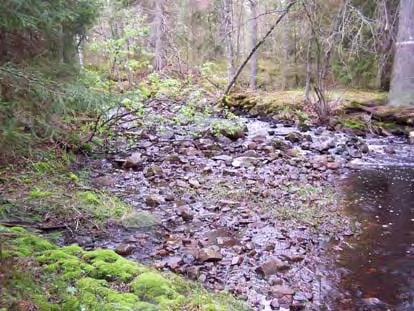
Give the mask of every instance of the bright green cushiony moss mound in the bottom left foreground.
M 58 247 L 0 226 L 0 310 L 246 310 L 231 296 L 162 274 L 111 250 Z

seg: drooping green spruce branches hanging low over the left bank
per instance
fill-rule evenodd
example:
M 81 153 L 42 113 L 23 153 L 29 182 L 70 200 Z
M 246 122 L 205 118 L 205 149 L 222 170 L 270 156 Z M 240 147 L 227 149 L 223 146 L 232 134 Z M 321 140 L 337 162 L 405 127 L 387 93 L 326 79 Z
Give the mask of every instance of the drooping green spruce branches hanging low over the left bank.
M 0 66 L 0 159 L 27 154 L 39 143 L 55 141 L 74 150 L 97 115 L 113 102 L 82 82 L 57 84 L 40 72 Z M 86 127 L 85 127 L 86 125 Z

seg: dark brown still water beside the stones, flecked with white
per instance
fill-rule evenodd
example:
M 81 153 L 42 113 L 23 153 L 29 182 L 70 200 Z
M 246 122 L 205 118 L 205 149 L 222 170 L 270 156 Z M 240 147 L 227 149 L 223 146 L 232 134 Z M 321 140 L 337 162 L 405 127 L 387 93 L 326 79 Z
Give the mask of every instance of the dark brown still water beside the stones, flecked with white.
M 339 310 L 414 310 L 414 168 L 363 169 L 344 191 L 362 233 L 339 259 Z

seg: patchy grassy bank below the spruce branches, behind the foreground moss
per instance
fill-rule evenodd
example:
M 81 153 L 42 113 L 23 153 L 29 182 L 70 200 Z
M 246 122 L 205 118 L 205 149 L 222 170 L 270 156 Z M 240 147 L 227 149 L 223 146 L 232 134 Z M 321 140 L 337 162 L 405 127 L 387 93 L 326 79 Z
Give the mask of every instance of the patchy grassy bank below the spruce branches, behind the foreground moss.
M 88 172 L 73 172 L 75 158 L 45 153 L 40 161 L 0 171 L 0 222 L 17 221 L 65 225 L 88 230 L 103 228 L 108 221 L 134 227 L 157 224 L 152 215 L 141 215 L 108 192 L 88 184 Z M 128 221 L 127 221 L 128 220 Z

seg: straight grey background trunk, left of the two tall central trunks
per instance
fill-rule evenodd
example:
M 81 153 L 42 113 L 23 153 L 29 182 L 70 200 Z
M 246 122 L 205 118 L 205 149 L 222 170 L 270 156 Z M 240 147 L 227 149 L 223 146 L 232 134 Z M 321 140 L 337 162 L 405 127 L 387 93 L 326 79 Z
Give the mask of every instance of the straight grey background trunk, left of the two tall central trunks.
M 160 71 L 165 67 L 164 50 L 164 1 L 155 1 L 154 12 L 154 70 Z

